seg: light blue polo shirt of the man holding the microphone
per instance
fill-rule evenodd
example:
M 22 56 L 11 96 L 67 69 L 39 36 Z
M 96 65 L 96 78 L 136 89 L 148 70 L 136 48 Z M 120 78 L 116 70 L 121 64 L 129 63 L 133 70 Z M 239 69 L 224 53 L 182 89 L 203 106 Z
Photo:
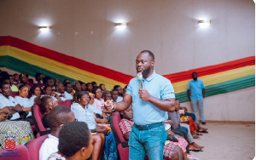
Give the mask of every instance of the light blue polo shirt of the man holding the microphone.
M 166 100 L 175 98 L 172 83 L 166 77 L 162 77 L 155 72 L 153 72 L 150 77 L 143 80 L 143 87 L 148 90 L 149 94 L 157 99 Z M 127 87 L 126 94 L 131 94 L 132 96 L 134 123 L 137 125 L 147 125 L 166 121 L 168 118 L 167 112 L 160 110 L 148 101 L 143 101 L 139 97 L 139 89 L 138 78 L 132 78 Z

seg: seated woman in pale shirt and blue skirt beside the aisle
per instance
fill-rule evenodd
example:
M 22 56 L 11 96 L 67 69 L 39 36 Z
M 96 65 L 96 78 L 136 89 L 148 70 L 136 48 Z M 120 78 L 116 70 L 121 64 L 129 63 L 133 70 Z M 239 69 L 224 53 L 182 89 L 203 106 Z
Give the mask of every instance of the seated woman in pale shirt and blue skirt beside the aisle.
M 71 110 L 79 122 L 87 123 L 90 130 L 96 130 L 101 133 L 102 137 L 105 134 L 106 143 L 104 149 L 104 159 L 117 159 L 117 149 L 113 137 L 113 132 L 103 126 L 96 125 L 96 117 L 94 113 L 101 114 L 101 110 L 89 104 L 90 95 L 86 91 L 80 91 L 78 94 L 78 103 L 73 103 Z M 102 123 L 106 123 L 106 119 L 102 119 Z M 103 134 L 102 134 L 103 133 Z

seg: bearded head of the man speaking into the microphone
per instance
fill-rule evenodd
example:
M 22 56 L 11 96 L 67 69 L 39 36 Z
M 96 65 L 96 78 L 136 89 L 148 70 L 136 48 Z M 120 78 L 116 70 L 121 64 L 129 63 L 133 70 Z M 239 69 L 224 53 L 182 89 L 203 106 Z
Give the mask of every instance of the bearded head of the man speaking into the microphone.
M 149 50 L 143 50 L 137 55 L 136 59 L 137 72 L 142 72 L 143 77 L 149 77 L 154 71 L 154 54 Z

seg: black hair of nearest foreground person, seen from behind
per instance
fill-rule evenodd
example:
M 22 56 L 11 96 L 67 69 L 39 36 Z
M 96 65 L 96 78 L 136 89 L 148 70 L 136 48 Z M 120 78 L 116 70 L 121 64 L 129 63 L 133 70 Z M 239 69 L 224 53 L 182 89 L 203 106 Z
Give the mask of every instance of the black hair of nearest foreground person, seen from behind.
M 72 157 L 77 151 L 90 144 L 90 131 L 84 122 L 66 123 L 59 134 L 58 150 L 67 157 Z

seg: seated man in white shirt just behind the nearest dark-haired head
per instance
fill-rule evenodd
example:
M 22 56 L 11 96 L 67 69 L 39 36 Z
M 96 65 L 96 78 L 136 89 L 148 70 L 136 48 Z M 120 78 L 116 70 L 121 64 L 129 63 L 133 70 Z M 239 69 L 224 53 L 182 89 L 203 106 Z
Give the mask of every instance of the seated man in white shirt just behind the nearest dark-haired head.
M 47 118 L 50 128 L 48 138 L 44 140 L 40 151 L 39 160 L 47 160 L 51 153 L 58 151 L 59 133 L 61 127 L 67 122 L 76 121 L 73 112 L 67 106 L 55 106 Z

